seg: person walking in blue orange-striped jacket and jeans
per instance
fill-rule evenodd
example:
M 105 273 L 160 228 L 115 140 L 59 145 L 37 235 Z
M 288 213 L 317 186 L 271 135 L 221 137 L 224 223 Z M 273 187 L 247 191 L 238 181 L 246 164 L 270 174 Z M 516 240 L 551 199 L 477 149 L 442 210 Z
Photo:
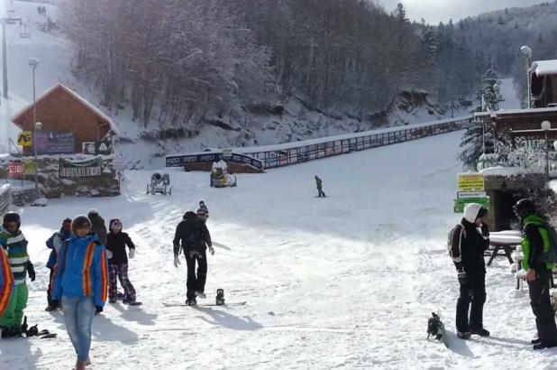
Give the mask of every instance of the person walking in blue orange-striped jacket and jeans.
M 52 301 L 63 301 L 62 311 L 68 336 L 78 360 L 77 370 L 90 363 L 91 325 L 96 312 L 102 312 L 108 287 L 105 245 L 91 232 L 88 217 L 78 216 L 71 223 L 72 236 L 60 247 L 52 283 Z

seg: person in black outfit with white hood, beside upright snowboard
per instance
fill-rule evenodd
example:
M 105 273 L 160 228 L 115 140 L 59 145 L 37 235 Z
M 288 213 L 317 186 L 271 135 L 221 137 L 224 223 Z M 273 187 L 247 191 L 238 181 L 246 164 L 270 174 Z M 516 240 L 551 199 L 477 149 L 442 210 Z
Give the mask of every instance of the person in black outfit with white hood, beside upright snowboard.
M 470 203 L 464 208 L 461 224 L 452 229 L 450 253 L 461 286 L 456 303 L 456 329 L 462 339 L 470 338 L 471 334 L 489 336 L 489 331 L 483 328 L 483 305 L 486 301 L 483 255 L 489 248 L 489 227 L 482 218 L 487 215 L 486 208 Z

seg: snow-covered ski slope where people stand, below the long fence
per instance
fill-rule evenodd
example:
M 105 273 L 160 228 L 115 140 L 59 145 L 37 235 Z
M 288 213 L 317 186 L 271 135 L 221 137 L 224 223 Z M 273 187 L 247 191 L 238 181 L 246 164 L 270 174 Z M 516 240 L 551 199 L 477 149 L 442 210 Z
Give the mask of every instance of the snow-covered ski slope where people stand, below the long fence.
M 461 133 L 238 175 L 211 189 L 205 172 L 172 172 L 173 195 L 146 196 L 151 172 L 128 171 L 114 199 L 60 199 L 23 210 L 37 281 L 26 314 L 54 340 L 0 342 L 0 368 L 74 364 L 59 312 L 46 306 L 49 251 L 63 217 L 98 208 L 120 217 L 137 245 L 130 276 L 142 307 L 107 304 L 94 322 L 92 369 L 507 369 L 555 368 L 557 349 L 534 353 L 527 292 L 516 294 L 505 258 L 488 268 L 485 327 L 493 337 L 454 335 L 457 280 L 445 252 L 458 220 L 452 198 Z M 329 198 L 315 199 L 313 177 Z M 206 292 L 243 306 L 164 307 L 186 293 L 186 266 L 172 264 L 174 229 L 204 199 L 216 253 Z M 201 300 L 200 300 L 201 301 Z M 441 310 L 452 347 L 428 342 Z

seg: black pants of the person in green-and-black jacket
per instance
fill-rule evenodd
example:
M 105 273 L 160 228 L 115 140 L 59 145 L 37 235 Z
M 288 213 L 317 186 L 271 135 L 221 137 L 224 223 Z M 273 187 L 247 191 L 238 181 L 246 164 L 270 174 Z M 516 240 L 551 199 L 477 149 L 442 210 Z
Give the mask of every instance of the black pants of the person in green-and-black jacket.
M 557 344 L 557 328 L 555 328 L 555 312 L 549 298 L 551 272 L 543 269 L 536 271 L 537 279 L 528 282 L 530 305 L 534 311 L 535 326 L 543 344 Z

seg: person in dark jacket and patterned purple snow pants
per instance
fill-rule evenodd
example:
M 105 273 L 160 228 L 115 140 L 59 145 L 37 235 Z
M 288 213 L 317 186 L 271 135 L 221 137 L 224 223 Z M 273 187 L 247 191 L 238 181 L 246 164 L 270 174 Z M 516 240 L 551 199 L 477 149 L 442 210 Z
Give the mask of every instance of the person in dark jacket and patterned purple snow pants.
M 132 282 L 128 278 L 128 255 L 125 250 L 127 245 L 130 248 L 130 259 L 133 259 L 135 257 L 135 245 L 132 238 L 127 233 L 123 233 L 122 222 L 118 218 L 111 219 L 108 228 L 110 228 L 108 236 L 106 236 L 106 250 L 110 252 L 108 254 L 108 301 L 110 303 L 116 302 L 118 292 L 116 279 L 120 279 L 124 292 L 122 302 L 126 304 L 135 303 L 135 288 L 133 288 Z

